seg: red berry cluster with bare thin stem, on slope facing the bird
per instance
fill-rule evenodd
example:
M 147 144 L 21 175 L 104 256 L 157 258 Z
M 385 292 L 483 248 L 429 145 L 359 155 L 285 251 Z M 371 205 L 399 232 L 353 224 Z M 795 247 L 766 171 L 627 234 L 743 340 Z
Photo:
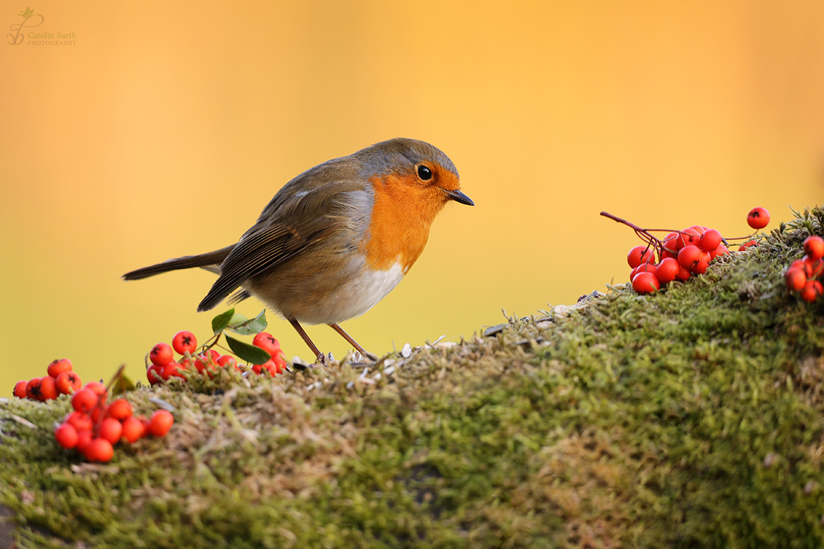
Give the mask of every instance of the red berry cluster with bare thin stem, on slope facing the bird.
M 709 227 L 694 225 L 684 230 L 672 230 L 660 240 L 651 233 L 664 232 L 664 229 L 642 229 L 606 212 L 601 212 L 601 215 L 630 226 L 635 234 L 647 243 L 645 246 L 630 249 L 626 256 L 627 263 L 632 268 L 632 288 L 639 294 L 658 291 L 672 281 L 685 281 L 693 274 L 704 274 L 710 261 L 719 255 L 729 253 L 721 233 Z M 769 222 L 770 212 L 762 207 L 753 208 L 747 214 L 747 223 L 753 229 L 763 229 Z M 747 236 L 741 240 L 750 238 Z M 756 245 L 756 241 L 748 240 L 738 247 L 738 251 L 753 245 Z M 658 263 L 655 261 L 656 254 Z

